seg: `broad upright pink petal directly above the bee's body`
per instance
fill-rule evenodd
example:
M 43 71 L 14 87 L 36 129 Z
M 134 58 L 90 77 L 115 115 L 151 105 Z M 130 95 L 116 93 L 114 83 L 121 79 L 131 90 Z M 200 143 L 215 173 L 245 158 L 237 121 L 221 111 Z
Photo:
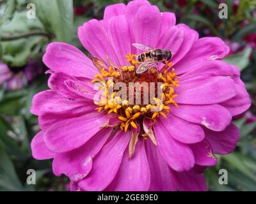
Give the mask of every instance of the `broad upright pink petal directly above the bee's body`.
M 136 43 L 156 47 L 161 33 L 161 13 L 157 6 L 145 5 L 138 9 L 132 33 Z

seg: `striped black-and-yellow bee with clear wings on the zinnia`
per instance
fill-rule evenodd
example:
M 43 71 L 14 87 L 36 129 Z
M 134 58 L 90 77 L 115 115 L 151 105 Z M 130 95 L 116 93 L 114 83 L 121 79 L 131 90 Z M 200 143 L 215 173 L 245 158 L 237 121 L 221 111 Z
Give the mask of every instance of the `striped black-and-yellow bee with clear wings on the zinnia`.
M 132 45 L 139 50 L 144 51 L 137 57 L 137 61 L 141 62 L 138 69 L 136 69 L 137 74 L 144 73 L 148 69 L 158 64 L 158 62 L 166 63 L 173 57 L 172 52 L 168 49 L 152 48 L 140 43 L 133 43 Z

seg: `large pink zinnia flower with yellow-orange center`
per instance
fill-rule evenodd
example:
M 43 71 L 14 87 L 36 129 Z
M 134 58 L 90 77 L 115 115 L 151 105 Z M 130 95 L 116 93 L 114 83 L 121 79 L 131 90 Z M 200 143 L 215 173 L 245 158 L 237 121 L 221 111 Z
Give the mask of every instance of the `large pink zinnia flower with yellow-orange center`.
M 33 98 L 31 112 L 42 131 L 31 148 L 36 159 L 53 158 L 54 174 L 67 175 L 72 190 L 204 191 L 202 173 L 217 163 L 214 154 L 236 147 L 239 129 L 232 116 L 251 103 L 239 70 L 219 60 L 229 48 L 220 38 L 198 39 L 196 31 L 175 23 L 173 13 L 131 1 L 108 6 L 103 20 L 79 27 L 94 63 L 72 45 L 48 45 L 43 61 L 51 69 L 51 90 Z M 141 51 L 132 43 L 170 49 L 172 63 L 137 75 L 132 54 Z M 93 85 L 129 81 L 163 82 L 159 112 L 115 94 L 116 103 L 94 103 Z

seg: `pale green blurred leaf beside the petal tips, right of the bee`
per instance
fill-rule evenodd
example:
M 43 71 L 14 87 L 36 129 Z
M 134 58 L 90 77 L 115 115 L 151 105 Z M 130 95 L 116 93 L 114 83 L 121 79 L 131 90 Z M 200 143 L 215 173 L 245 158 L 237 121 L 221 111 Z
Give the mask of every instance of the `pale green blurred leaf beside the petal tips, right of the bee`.
M 223 61 L 228 62 L 229 64 L 234 64 L 239 68 L 240 71 L 243 71 L 244 68 L 250 62 L 250 54 L 252 52 L 252 48 L 246 47 L 243 52 L 239 54 L 234 54 L 230 57 L 225 57 Z

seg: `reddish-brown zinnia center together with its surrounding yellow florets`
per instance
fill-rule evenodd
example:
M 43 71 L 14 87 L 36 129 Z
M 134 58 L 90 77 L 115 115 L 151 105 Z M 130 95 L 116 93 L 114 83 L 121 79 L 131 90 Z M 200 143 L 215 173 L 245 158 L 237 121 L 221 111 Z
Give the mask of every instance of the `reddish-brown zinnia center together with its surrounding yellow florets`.
M 123 131 L 137 129 L 143 119 L 156 122 L 160 115 L 166 118 L 170 105 L 177 107 L 174 98 L 174 88 L 179 87 L 179 77 L 175 70 L 170 69 L 172 62 L 164 64 L 161 70 L 153 67 L 144 73 L 137 74 L 136 69 L 141 62 L 136 61 L 136 55 L 126 55 L 130 66 L 117 68 L 111 61 L 109 68 L 104 67 L 97 57 L 92 57 L 93 64 L 100 73 L 92 80 L 99 86 L 101 92 L 96 108 L 99 112 L 114 114 L 120 120 L 118 126 Z

